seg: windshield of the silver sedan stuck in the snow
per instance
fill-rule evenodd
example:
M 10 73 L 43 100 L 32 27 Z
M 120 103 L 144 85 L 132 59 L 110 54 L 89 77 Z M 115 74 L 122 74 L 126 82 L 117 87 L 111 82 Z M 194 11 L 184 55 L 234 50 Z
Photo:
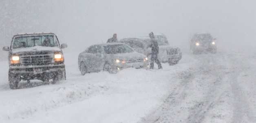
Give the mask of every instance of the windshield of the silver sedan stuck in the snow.
M 134 52 L 127 45 L 107 45 L 104 46 L 106 54 L 131 53 Z

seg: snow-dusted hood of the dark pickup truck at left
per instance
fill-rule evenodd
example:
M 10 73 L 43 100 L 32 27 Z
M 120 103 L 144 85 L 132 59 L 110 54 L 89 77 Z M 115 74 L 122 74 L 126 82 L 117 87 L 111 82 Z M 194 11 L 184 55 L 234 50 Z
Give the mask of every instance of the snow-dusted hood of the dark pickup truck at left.
M 59 47 L 43 47 L 43 46 L 12 49 L 13 53 L 34 52 L 34 51 L 61 51 L 61 49 Z

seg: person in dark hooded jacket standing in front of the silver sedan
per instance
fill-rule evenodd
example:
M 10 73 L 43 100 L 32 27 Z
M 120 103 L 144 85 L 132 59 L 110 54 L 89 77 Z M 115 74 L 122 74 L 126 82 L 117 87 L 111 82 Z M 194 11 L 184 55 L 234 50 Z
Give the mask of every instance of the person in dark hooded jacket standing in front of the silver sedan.
M 154 62 L 157 63 L 158 69 L 162 69 L 161 62 L 157 58 L 157 55 L 159 53 L 159 47 L 158 47 L 157 40 L 155 40 L 153 32 L 151 32 L 149 34 L 149 36 L 150 36 L 150 39 L 151 39 L 150 45 L 148 46 L 148 47 L 151 48 L 150 69 L 154 69 Z

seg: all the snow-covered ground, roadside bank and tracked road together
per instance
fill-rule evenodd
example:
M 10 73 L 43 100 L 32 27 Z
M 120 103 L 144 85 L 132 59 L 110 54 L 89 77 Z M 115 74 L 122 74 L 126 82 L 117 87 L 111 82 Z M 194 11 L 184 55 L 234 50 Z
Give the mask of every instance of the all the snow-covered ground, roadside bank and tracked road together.
M 81 76 L 66 55 L 67 81 L 10 90 L 1 62 L 0 123 L 255 123 L 256 55 L 183 55 L 163 70 Z

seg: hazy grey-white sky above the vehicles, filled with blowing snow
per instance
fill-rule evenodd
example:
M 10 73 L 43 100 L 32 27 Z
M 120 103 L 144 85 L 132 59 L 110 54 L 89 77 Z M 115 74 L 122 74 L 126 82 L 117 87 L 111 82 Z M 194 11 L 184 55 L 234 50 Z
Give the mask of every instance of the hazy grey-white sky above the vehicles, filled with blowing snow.
M 254 0 L 1 0 L 1 46 L 23 32 L 55 32 L 70 49 L 162 32 L 187 47 L 196 32 L 221 42 L 256 42 Z M 76 43 L 77 42 L 77 43 Z M 82 45 L 81 45 L 82 43 Z M 79 45 L 77 45 L 79 44 Z M 0 52 L 1 53 L 1 52 Z

